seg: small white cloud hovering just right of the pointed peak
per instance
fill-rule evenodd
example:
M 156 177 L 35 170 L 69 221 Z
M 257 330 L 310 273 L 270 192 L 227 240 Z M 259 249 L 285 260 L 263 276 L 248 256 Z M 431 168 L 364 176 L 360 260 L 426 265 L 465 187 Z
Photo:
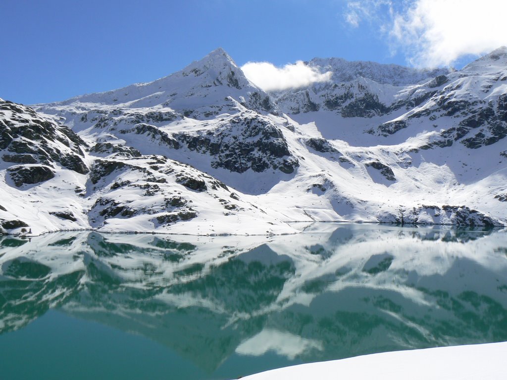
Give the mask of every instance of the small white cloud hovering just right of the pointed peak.
M 264 91 L 285 90 L 309 86 L 316 82 L 327 82 L 332 72 L 320 73 L 305 65 L 303 61 L 276 67 L 269 62 L 247 62 L 241 66 L 246 78 Z

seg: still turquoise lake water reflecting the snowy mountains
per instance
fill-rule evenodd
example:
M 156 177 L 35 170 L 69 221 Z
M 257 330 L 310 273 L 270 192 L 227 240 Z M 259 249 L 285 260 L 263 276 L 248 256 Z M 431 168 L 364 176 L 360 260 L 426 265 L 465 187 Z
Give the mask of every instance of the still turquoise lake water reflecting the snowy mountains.
M 227 379 L 507 340 L 507 233 L 0 238 L 0 377 Z

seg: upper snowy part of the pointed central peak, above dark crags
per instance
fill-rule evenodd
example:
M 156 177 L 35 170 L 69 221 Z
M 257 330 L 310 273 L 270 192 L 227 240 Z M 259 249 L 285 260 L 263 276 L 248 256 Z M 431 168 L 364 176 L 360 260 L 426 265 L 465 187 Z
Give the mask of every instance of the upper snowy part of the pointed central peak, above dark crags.
M 225 99 L 234 99 L 234 101 Z M 163 105 L 186 112 L 213 112 L 208 108 L 236 109 L 238 104 L 276 113 L 268 95 L 251 83 L 222 48 L 218 48 L 183 70 L 149 83 L 138 83 L 103 93 L 86 94 L 55 104 L 95 103 L 100 107 L 153 107 Z M 204 110 L 205 109 L 205 110 Z M 197 117 L 199 112 L 194 112 Z

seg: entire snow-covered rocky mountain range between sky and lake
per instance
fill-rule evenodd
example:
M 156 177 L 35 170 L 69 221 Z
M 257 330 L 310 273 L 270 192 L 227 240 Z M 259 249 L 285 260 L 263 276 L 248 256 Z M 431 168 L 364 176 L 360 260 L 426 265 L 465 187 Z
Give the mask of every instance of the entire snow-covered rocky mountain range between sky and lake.
M 331 81 L 267 94 L 218 49 L 146 84 L 2 101 L 3 231 L 507 223 L 507 48 L 457 71 L 307 64 Z

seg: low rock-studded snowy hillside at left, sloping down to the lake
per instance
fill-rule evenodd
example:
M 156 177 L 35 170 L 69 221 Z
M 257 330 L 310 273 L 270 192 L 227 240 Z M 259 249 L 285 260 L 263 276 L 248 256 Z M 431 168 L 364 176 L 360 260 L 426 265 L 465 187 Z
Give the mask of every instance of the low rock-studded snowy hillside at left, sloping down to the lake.
M 189 165 L 122 144 L 85 142 L 22 105 L 0 103 L 0 149 L 2 233 L 296 232 L 276 212 Z

